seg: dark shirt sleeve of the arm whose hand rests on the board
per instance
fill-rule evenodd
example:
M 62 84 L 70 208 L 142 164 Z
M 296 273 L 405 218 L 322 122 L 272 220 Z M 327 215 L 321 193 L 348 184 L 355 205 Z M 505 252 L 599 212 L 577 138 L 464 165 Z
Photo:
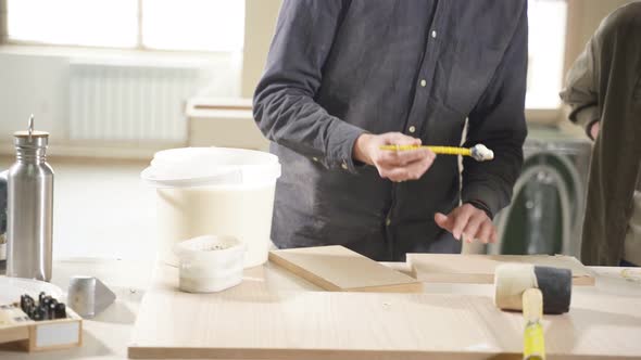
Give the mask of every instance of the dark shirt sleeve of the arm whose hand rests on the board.
M 523 166 L 527 136 L 525 92 L 528 56 L 527 9 L 483 95 L 468 116 L 465 146 L 482 143 L 494 152 L 491 162 L 463 162 L 462 200 L 480 202 L 491 215 L 510 204 Z

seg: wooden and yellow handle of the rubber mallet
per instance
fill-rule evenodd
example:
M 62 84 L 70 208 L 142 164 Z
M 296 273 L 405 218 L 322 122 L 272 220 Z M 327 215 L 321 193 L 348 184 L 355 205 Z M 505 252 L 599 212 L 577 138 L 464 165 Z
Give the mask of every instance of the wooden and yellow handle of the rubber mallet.
M 543 317 L 543 294 L 538 288 L 523 293 L 523 317 L 526 321 L 523 335 L 523 358 L 545 359 L 545 339 L 541 318 Z

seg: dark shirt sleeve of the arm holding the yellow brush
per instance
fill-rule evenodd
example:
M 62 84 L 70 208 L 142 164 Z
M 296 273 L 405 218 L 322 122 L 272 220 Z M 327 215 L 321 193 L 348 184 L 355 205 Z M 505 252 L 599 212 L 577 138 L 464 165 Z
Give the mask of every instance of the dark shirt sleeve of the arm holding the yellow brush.
M 315 102 L 343 12 L 338 0 L 285 0 L 253 115 L 271 141 L 323 164 L 356 171 L 352 151 L 365 131 Z

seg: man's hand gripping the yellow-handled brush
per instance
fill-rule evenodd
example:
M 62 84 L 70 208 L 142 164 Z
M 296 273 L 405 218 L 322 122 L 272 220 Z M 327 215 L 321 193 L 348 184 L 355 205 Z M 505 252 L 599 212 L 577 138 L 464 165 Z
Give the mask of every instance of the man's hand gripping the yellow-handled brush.
M 376 166 L 384 179 L 391 181 L 416 180 L 433 163 L 436 154 L 429 149 L 404 151 L 381 150 L 382 145 L 420 145 L 420 139 L 407 137 L 400 132 L 384 134 L 364 133 L 354 143 L 355 159 Z

